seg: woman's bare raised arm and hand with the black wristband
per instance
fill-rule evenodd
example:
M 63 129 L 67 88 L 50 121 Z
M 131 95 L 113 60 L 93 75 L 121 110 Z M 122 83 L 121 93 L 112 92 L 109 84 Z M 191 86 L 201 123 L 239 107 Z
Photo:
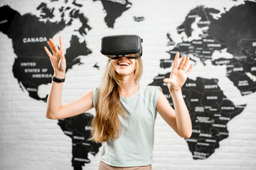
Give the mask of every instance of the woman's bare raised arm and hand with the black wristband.
M 53 52 L 53 55 L 47 49 L 46 53 L 50 57 L 50 62 L 54 69 L 54 76 L 59 79 L 65 78 L 65 69 L 66 69 L 66 61 L 63 53 L 63 43 L 60 37 L 60 50 L 58 49 L 55 42 L 52 39 L 48 41 L 48 45 L 50 50 Z M 65 106 L 61 106 L 61 94 L 63 89 L 63 83 L 57 83 L 52 81 L 50 94 L 47 100 L 47 108 L 46 108 L 46 118 L 50 119 L 62 119 L 69 118 L 85 111 L 93 108 L 92 103 L 92 91 L 88 92 L 78 100 L 70 102 Z

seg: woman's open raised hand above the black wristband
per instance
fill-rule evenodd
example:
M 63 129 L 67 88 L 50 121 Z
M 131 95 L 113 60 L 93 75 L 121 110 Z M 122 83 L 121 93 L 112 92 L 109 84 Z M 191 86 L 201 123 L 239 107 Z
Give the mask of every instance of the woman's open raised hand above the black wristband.
M 50 50 L 53 52 L 53 55 L 50 53 L 47 47 L 44 47 L 46 50 L 47 55 L 50 57 L 50 62 L 53 66 L 54 76 L 58 77 L 59 79 L 65 78 L 65 69 L 66 69 L 66 60 L 63 52 L 63 42 L 62 38 L 59 37 L 60 40 L 60 49 L 55 44 L 55 42 L 50 38 L 47 42 Z

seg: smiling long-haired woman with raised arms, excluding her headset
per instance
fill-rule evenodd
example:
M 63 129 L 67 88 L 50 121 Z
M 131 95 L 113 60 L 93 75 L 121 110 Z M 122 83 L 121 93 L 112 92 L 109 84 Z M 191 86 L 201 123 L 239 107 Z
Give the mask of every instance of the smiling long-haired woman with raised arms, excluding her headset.
M 52 39 L 44 47 L 54 69 L 54 77 L 65 79 L 66 62 L 61 37 L 60 49 Z M 84 113 L 95 107 L 90 140 L 102 142 L 100 170 L 103 169 L 151 169 L 154 145 L 156 113 L 181 137 L 192 133 L 191 118 L 183 101 L 181 86 L 185 83 L 193 65 L 186 70 L 189 57 L 185 55 L 178 64 L 179 53 L 174 59 L 168 84 L 174 108 L 159 86 L 139 84 L 142 76 L 142 59 L 119 57 L 108 60 L 105 75 L 99 88 L 61 105 L 63 83 L 52 81 L 48 96 L 46 118 L 63 119 Z

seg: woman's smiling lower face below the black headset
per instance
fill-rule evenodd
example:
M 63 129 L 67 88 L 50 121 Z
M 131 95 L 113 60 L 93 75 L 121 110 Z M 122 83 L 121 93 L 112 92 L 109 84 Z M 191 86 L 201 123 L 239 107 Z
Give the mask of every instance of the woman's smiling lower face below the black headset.
M 112 60 L 114 70 L 119 75 L 129 75 L 134 73 L 136 66 L 136 59 L 129 59 L 129 57 L 134 57 L 133 55 L 128 55 L 127 57 L 120 57 L 118 59 Z

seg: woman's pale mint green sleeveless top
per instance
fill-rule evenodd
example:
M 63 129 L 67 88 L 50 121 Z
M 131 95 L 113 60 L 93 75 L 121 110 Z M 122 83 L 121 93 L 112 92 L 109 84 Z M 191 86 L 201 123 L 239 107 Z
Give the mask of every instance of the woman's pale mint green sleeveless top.
M 120 96 L 127 118 L 119 115 L 120 137 L 102 142 L 100 161 L 111 166 L 146 166 L 153 164 L 154 124 L 159 86 L 143 86 L 134 96 Z M 97 104 L 97 89 L 93 91 L 93 105 Z

